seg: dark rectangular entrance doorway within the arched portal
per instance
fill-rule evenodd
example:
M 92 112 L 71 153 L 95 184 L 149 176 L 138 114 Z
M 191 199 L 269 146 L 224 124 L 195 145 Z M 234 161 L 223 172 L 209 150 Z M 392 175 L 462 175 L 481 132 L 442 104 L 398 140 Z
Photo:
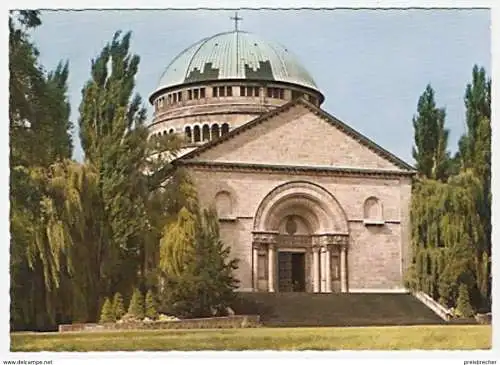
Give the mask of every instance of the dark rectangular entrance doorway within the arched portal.
M 303 292 L 306 290 L 306 256 L 304 252 L 279 252 L 278 290 Z

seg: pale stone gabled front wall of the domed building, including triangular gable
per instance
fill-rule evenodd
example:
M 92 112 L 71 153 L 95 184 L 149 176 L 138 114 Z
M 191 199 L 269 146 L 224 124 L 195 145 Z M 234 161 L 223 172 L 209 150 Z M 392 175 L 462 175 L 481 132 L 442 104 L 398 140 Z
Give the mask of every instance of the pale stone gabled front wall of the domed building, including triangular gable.
M 277 291 L 280 252 L 304 253 L 306 291 L 403 290 L 412 172 L 296 104 L 180 160 L 219 212 L 240 290 Z

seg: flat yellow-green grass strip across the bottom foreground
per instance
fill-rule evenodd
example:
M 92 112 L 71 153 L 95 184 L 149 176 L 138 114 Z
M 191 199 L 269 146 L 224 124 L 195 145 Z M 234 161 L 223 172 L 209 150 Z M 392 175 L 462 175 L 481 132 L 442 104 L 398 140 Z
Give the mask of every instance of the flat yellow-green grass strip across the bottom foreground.
M 11 334 L 11 351 L 472 350 L 489 348 L 491 348 L 491 326 L 248 328 Z

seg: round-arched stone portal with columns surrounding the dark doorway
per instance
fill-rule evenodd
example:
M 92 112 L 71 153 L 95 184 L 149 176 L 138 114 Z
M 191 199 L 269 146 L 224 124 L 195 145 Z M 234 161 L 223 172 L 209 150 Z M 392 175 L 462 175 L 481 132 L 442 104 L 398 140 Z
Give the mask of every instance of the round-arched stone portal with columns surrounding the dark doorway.
M 328 190 L 307 181 L 274 188 L 253 229 L 254 290 L 347 291 L 347 216 Z

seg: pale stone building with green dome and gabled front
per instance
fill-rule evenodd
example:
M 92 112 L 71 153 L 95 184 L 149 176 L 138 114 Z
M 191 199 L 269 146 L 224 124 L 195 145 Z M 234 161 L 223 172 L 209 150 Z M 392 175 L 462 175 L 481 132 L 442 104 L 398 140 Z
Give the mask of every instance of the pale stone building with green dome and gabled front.
M 241 291 L 404 291 L 415 171 L 324 99 L 291 50 L 237 28 L 186 48 L 150 96 L 150 133 L 184 138 L 174 164 L 216 207 Z

